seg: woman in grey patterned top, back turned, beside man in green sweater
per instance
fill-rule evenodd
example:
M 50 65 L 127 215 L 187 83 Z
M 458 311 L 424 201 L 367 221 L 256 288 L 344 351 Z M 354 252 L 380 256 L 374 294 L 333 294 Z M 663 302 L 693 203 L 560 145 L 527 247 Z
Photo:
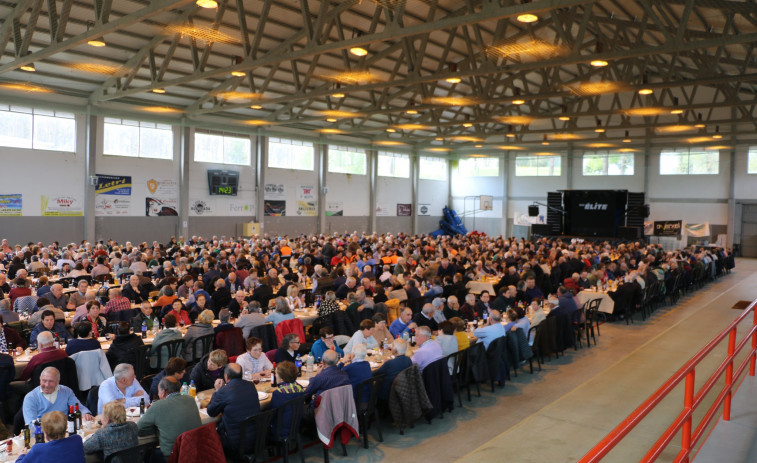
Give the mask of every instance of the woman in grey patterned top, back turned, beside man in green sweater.
M 84 443 L 84 453 L 102 453 L 105 459 L 119 450 L 139 445 L 137 423 L 126 421 L 126 409 L 121 402 L 105 404 L 100 421 L 103 427 Z

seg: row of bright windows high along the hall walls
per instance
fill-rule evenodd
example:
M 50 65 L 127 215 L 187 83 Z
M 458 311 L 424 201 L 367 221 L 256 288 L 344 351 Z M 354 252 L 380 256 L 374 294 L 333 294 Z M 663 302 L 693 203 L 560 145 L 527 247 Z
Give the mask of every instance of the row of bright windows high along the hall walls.
M 0 105 L 0 146 L 54 151 L 75 151 L 76 121 L 72 113 Z M 103 152 L 113 156 L 149 159 L 173 159 L 173 130 L 168 124 L 105 118 Z M 195 162 L 249 165 L 252 143 L 249 137 L 217 135 L 197 131 L 194 139 Z M 582 172 L 594 175 L 633 175 L 634 155 L 616 152 L 586 153 Z M 716 175 L 719 173 L 718 151 L 665 150 L 660 153 L 660 175 Z M 314 170 L 314 146 L 311 142 L 270 138 L 268 167 Z M 465 177 L 496 177 L 499 158 L 470 157 L 458 162 L 458 173 Z M 368 161 L 364 150 L 329 146 L 328 171 L 365 175 Z M 757 174 L 757 147 L 749 149 L 747 172 Z M 410 157 L 406 154 L 379 152 L 377 174 L 382 177 L 410 176 Z M 559 155 L 524 155 L 515 158 L 515 175 L 560 176 Z M 421 157 L 422 179 L 446 180 L 447 160 Z

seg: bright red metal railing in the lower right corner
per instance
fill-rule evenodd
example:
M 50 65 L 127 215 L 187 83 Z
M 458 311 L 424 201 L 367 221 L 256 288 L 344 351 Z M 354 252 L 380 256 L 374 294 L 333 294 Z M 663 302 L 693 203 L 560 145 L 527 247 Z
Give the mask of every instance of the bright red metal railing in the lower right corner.
M 620 441 L 628 435 L 644 417 L 646 417 L 662 400 L 678 386 L 681 381 L 685 381 L 683 410 L 676 417 L 668 429 L 660 436 L 651 449 L 644 455 L 641 461 L 655 461 L 657 457 L 665 450 L 667 445 L 673 440 L 676 433 L 681 431 L 681 451 L 676 455 L 674 461 L 688 463 L 691 450 L 697 445 L 697 442 L 703 437 L 707 425 L 717 415 L 718 408 L 723 405 L 723 419 L 731 419 L 731 395 L 735 382 L 741 377 L 749 365 L 749 375 L 754 376 L 755 356 L 757 353 L 757 300 L 753 301 L 749 307 L 739 315 L 726 329 L 720 332 L 712 341 L 694 355 L 691 360 L 681 367 L 665 384 L 660 386 L 654 394 L 644 401 L 636 410 L 633 411 L 622 423 L 615 427 L 604 439 L 594 446 L 586 455 L 579 460 L 581 463 L 590 463 L 600 461 L 607 455 Z M 749 313 L 753 313 L 752 327 L 746 335 L 736 344 L 736 328 L 739 323 L 746 319 Z M 707 357 L 725 338 L 728 338 L 728 356 L 723 360 L 715 372 L 707 379 L 698 392 L 694 391 L 694 378 L 697 365 Z M 733 371 L 734 358 L 751 339 L 752 349 L 744 358 L 742 363 Z M 725 385 L 712 403 L 707 413 L 702 417 L 697 427 L 692 433 L 692 416 L 694 410 L 702 404 L 704 397 L 712 390 L 718 380 L 725 374 Z

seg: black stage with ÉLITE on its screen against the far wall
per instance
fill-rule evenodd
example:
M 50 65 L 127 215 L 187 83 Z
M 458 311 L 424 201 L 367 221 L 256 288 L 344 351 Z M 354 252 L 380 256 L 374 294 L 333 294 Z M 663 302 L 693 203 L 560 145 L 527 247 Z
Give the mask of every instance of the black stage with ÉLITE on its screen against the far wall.
M 637 239 L 643 236 L 649 206 L 644 193 L 628 190 L 559 190 L 547 193 L 547 224 L 532 226 L 542 236 Z M 539 204 L 539 203 L 537 203 Z M 538 215 L 538 206 L 529 215 Z

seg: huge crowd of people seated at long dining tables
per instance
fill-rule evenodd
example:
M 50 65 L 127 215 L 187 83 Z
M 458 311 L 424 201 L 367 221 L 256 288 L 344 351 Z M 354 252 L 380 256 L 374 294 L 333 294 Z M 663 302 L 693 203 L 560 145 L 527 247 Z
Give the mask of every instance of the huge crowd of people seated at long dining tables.
M 670 292 L 704 272 L 714 277 L 733 266 L 730 251 L 714 247 L 665 251 L 643 242 L 529 241 L 482 235 L 179 237 L 167 243 L 65 246 L 57 242 L 10 246 L 2 240 L 0 350 L 27 347 L 27 340 L 7 324 L 17 322 L 19 315 L 29 316 L 28 345 L 39 353 L 18 378 L 23 382 L 38 366 L 100 349 L 96 338 L 113 336 L 107 353 L 113 376 L 100 385 L 97 410 L 81 405 L 85 420 L 97 417 L 103 426 L 96 438 L 82 444 L 78 436 L 66 438 L 60 432 L 60 415 L 69 406 L 80 405 L 75 391 L 60 384 L 66 372 L 48 367 L 36 388 L 25 389 L 25 383 L 14 388 L 23 400 L 23 421 L 31 423 L 41 416 L 49 440 L 44 448 L 33 447 L 26 461 L 45 461 L 57 452 L 52 450 L 56 446 L 81 449 L 83 445 L 81 452 L 69 452 L 72 459 L 65 461 L 81 461 L 83 452 L 107 457 L 136 445 L 138 433 L 156 430 L 160 456 L 167 459 L 176 437 L 200 426 L 194 400 L 180 394 L 187 380 L 197 390 L 215 391 L 207 412 L 222 415 L 217 430 L 224 448 L 233 452 L 243 437 L 239 424 L 260 410 L 253 382 L 244 379 L 275 375 L 278 389 L 271 406 L 305 396 L 311 405 L 304 419 L 312 420 L 316 399 L 325 391 L 351 386 L 357 396 L 358 385 L 374 374 L 366 361 L 370 349 L 391 349 L 393 354 L 375 372 L 384 375 L 379 397 L 388 401 L 392 380 L 402 371 L 413 365 L 422 371 L 466 349 L 471 342 L 467 322 L 483 321 L 472 334 L 488 347 L 510 331 L 528 333 L 545 317 L 576 312 L 580 304 L 575 295 L 586 288 L 617 282 L 617 289 L 610 292 L 616 303 L 613 316 L 624 317 L 642 303 L 645 287 L 658 285 Z M 112 283 L 111 276 L 121 282 L 120 287 L 104 288 L 105 292 L 89 288 L 95 281 Z M 61 279 L 72 281 L 76 290 L 66 294 Z M 471 282 L 483 279 L 493 281 L 492 294 L 470 289 Z M 404 290 L 407 307 L 395 318 L 388 307 L 398 290 Z M 291 320 L 295 309 L 314 303 L 318 319 L 313 338 L 284 336 L 274 354 L 274 367 L 263 352 L 264 341 L 252 336 L 253 330 Z M 340 303 L 355 329 L 345 343 L 337 342 L 333 327 L 318 323 L 341 312 Z M 535 310 L 544 303 L 552 308 L 549 314 Z M 70 311 L 73 323 L 67 327 L 65 312 Z M 219 321 L 215 327 L 214 320 Z M 197 353 L 192 350 L 196 344 L 188 339 L 235 327 L 242 333 L 243 348 L 234 353 L 234 362 L 229 361 L 229 352 L 217 348 L 190 365 Z M 157 332 L 150 366 L 161 370 L 148 391 L 127 363 L 131 349 L 142 345 L 135 333 L 143 328 Z M 411 357 L 406 355 L 410 338 L 417 345 Z M 158 355 L 165 343 L 177 339 L 185 341 L 178 357 Z M 65 349 L 58 348 L 59 342 L 66 344 Z M 295 381 L 300 354 L 311 354 L 319 363 L 318 374 L 306 387 Z M 124 407 L 140 403 L 149 408 L 134 425 L 125 419 Z

